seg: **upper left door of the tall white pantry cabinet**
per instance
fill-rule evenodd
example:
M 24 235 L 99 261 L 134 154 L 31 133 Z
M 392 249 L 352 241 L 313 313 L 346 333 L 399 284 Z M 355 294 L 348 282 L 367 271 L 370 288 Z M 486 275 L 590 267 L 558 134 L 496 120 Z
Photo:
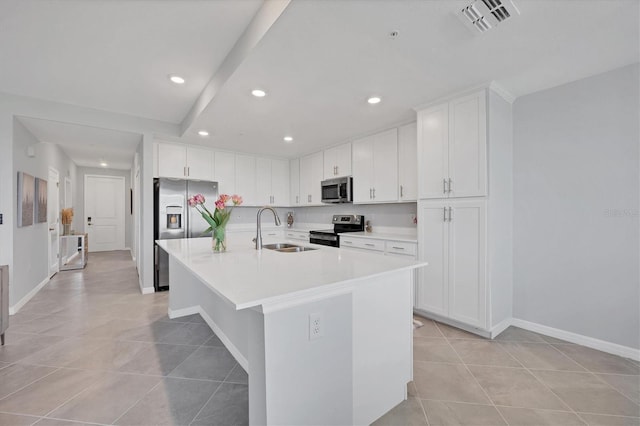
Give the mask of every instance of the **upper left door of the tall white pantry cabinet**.
M 418 195 L 447 198 L 449 178 L 449 104 L 418 113 Z

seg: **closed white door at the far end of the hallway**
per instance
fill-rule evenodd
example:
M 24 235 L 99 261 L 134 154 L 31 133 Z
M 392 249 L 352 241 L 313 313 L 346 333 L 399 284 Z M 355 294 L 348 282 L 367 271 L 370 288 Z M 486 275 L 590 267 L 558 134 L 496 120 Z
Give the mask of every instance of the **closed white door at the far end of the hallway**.
M 124 177 L 86 175 L 84 215 L 89 251 L 124 250 Z

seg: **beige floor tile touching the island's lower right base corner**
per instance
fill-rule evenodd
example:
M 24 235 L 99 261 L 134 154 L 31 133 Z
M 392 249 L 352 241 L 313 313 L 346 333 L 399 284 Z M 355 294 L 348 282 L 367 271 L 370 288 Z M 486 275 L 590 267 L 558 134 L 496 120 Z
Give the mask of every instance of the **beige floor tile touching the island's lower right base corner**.
M 413 382 L 422 399 L 490 404 L 464 365 L 416 361 Z

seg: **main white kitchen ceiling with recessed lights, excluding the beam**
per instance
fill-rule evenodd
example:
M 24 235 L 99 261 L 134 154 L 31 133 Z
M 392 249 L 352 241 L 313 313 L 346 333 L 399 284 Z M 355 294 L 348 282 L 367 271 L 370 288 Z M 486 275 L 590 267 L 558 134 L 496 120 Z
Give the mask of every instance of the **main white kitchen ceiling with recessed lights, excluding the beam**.
M 456 15 L 469 2 L 293 0 L 191 121 L 262 1 L 5 0 L 0 91 L 182 122 L 183 142 L 295 157 L 411 121 L 414 106 L 474 85 L 521 96 L 640 61 L 637 0 L 516 0 L 521 16 L 482 35 Z M 267 96 L 251 96 L 256 87 Z M 372 94 L 382 102 L 367 104 Z

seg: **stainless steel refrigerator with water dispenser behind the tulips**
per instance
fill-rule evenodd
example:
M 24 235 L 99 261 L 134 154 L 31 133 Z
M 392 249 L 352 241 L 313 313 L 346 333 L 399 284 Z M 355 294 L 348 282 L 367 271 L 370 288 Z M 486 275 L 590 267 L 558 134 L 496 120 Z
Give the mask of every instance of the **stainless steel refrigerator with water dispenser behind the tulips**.
M 209 224 L 187 199 L 202 194 L 209 211 L 215 209 L 218 183 L 182 179 L 160 178 L 153 181 L 154 196 L 154 287 L 156 291 L 169 289 L 169 255 L 155 244 L 156 240 L 211 237 L 203 234 Z

